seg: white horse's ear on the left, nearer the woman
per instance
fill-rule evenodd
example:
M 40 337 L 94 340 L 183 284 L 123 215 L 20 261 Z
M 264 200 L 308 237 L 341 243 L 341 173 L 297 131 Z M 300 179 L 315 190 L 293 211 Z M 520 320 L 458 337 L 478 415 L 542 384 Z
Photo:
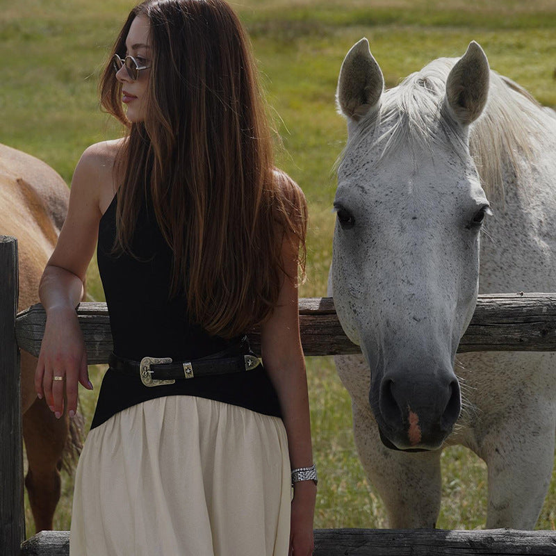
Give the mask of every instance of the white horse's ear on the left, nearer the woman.
M 339 111 L 356 122 L 378 107 L 384 78 L 377 60 L 370 54 L 366 38 L 356 42 L 346 54 L 336 91 Z

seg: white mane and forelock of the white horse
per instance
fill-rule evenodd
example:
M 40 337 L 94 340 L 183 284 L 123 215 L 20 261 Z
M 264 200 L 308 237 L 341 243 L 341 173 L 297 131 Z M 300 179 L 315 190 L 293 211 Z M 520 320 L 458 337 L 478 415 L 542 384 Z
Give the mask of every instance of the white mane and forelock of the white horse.
M 445 82 L 456 62 L 457 58 L 439 58 L 386 90 L 379 111 L 361 122 L 345 153 L 363 141 L 369 144 L 370 138 L 374 145 L 384 145 L 381 158 L 414 142 L 427 148 L 448 142 L 464 156 L 465 138 L 444 104 Z M 532 158 L 531 141 L 546 130 L 546 118 L 525 89 L 491 71 L 489 100 L 469 133 L 469 152 L 487 197 L 503 198 L 505 174 L 518 177 L 518 161 Z M 383 130 L 381 136 L 378 129 Z

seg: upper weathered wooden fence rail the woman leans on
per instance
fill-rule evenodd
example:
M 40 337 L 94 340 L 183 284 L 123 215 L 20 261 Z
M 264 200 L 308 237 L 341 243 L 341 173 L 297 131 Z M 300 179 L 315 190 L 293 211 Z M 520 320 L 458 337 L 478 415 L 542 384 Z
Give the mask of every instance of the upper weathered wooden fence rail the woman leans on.
M 106 304 L 81 303 L 77 313 L 89 362 L 106 363 L 112 350 Z M 40 304 L 19 313 L 15 327 L 19 347 L 38 355 L 45 320 Z M 300 327 L 306 355 L 361 353 L 345 336 L 332 297 L 301 299 Z M 258 350 L 256 329 L 250 338 Z M 458 351 L 556 351 L 556 293 L 480 295 Z

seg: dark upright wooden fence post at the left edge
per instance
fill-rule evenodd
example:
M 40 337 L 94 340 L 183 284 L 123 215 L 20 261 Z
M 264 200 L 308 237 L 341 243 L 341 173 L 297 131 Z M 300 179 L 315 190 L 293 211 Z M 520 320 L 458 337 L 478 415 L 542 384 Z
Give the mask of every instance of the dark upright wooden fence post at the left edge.
M 6 556 L 19 555 L 25 539 L 18 293 L 17 240 L 0 236 L 0 551 Z

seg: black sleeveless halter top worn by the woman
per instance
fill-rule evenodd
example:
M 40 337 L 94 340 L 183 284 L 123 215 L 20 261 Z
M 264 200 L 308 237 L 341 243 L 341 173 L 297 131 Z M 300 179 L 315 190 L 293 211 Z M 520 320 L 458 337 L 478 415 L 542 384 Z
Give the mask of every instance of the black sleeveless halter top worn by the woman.
M 211 336 L 191 322 L 184 296 L 169 297 L 172 250 L 158 227 L 149 195 L 138 215 L 131 242 L 133 255 L 112 253 L 116 204 L 114 197 L 100 220 L 97 249 L 115 354 L 136 361 L 147 356 L 190 361 L 233 350 L 237 340 Z M 167 395 L 194 395 L 281 416 L 276 391 L 263 366 L 245 373 L 195 377 L 154 387 L 144 386 L 139 377 L 127 377 L 109 368 L 102 380 L 91 429 L 122 409 Z

